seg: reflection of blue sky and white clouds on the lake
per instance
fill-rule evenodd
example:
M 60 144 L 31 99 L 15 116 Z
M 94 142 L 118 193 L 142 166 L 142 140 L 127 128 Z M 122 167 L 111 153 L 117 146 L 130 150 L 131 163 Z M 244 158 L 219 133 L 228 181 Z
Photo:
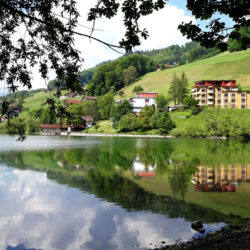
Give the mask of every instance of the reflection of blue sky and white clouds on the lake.
M 45 173 L 0 169 L 1 249 L 134 249 L 195 235 L 184 218 L 127 212 L 95 195 L 58 185 Z

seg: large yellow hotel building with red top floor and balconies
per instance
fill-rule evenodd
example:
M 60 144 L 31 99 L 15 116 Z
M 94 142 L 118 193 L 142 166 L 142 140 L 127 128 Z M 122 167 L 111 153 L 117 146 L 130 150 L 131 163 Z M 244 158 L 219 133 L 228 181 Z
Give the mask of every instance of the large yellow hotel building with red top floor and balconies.
M 218 108 L 250 108 L 250 92 L 240 91 L 235 80 L 198 81 L 192 88 L 192 97 L 199 105 Z

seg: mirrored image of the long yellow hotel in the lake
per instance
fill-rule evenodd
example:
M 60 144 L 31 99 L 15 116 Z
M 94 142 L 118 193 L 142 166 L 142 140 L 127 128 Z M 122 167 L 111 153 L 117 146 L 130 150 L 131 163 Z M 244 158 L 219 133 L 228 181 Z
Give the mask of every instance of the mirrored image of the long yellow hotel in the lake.
M 192 178 L 195 190 L 204 192 L 235 192 L 238 182 L 250 180 L 250 165 L 221 165 L 218 168 L 198 166 Z

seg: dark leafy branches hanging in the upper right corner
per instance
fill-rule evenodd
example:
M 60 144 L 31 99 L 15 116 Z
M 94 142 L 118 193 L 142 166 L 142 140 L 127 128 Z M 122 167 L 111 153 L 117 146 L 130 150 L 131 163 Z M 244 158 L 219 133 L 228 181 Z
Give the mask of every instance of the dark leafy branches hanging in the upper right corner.
M 182 23 L 178 27 L 183 35 L 199 42 L 206 48 L 217 47 L 224 51 L 228 48 L 230 39 L 240 40 L 240 28 L 250 26 L 248 0 L 188 0 L 187 9 L 192 12 L 196 19 L 211 20 L 205 31 L 199 25 L 193 24 L 192 21 Z M 216 13 L 229 16 L 234 21 L 234 25 L 226 27 L 223 20 L 213 18 L 213 15 Z M 242 40 L 242 49 L 247 49 L 249 44 L 249 37 Z

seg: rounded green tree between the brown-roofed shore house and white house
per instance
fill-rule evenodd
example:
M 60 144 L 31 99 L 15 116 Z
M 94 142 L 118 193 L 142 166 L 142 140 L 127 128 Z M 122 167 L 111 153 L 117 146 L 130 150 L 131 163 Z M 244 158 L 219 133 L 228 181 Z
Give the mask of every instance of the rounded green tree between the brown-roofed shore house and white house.
M 98 108 L 101 115 L 101 119 L 108 120 L 111 117 L 112 108 L 115 105 L 114 96 L 111 93 L 107 93 L 98 99 Z

